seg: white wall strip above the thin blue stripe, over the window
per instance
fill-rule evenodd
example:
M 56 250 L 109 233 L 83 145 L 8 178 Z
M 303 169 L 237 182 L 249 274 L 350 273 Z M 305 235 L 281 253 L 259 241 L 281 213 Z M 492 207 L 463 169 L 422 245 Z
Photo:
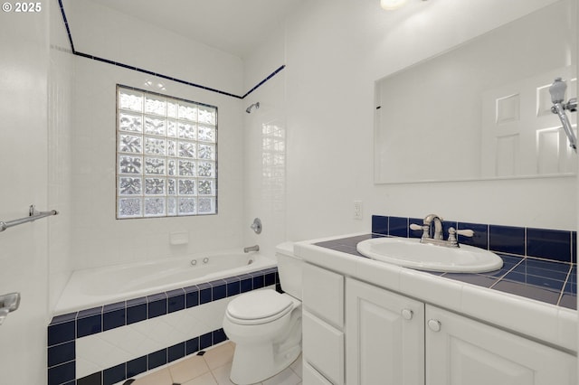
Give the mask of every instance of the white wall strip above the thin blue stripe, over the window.
M 77 52 L 234 95 L 243 93 L 243 63 L 231 53 L 88 0 L 64 0 L 62 4 Z

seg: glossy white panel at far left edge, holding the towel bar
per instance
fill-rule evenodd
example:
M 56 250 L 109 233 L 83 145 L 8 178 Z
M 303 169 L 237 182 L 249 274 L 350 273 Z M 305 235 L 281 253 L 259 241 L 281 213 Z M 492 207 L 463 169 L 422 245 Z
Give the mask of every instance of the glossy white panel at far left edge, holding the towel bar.
M 49 4 L 36 14 L 0 13 L 0 221 L 48 209 Z M 0 326 L 2 383 L 46 383 L 48 227 L 52 218 L 0 233 L 0 294 L 20 309 Z

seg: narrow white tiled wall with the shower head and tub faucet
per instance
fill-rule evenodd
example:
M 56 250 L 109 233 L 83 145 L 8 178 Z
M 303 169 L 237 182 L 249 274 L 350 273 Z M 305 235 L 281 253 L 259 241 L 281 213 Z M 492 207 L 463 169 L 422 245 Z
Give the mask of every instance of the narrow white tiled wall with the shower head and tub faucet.
M 284 26 L 272 31 L 267 41 L 244 58 L 243 64 L 246 91 L 285 64 Z M 275 246 L 288 239 L 286 79 L 286 70 L 280 70 L 242 102 L 243 108 L 258 101 L 261 105 L 251 114 L 243 113 L 243 239 L 246 246 L 259 244 L 268 255 L 274 255 Z M 273 139 L 276 148 L 271 148 L 270 128 L 279 134 Z M 263 222 L 260 235 L 249 228 L 256 217 Z

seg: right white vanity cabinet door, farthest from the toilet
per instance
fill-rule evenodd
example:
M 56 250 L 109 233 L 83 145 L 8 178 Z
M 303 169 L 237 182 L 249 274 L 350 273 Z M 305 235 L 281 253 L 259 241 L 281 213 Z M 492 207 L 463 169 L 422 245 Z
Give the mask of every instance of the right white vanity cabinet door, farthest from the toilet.
M 571 385 L 576 358 L 426 306 L 426 385 Z

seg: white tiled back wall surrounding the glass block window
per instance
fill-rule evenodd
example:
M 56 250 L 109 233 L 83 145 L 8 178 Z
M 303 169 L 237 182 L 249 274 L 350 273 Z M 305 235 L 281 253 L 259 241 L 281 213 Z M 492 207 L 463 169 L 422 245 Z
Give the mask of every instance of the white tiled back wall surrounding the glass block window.
M 77 52 L 242 93 L 242 61 L 233 55 L 90 1 L 69 1 L 64 6 Z M 73 83 L 73 268 L 242 248 L 245 113 L 240 99 L 78 56 Z M 115 219 L 117 84 L 217 106 L 217 215 Z M 170 234 L 174 232 L 187 233 L 188 244 L 171 245 Z

